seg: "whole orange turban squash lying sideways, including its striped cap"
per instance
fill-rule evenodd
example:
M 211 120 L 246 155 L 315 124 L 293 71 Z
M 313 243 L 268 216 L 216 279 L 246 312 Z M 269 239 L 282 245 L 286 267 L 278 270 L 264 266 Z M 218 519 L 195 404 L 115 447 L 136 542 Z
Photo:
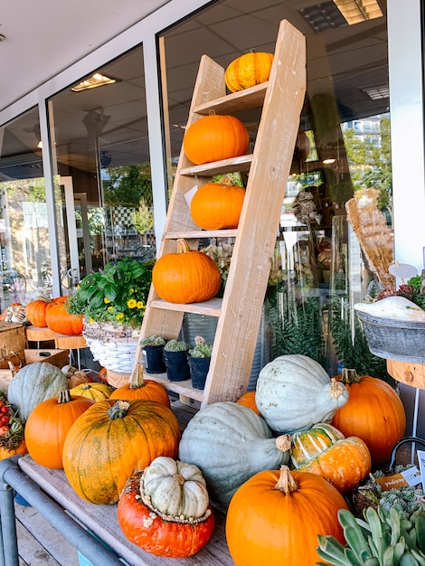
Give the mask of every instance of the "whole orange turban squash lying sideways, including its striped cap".
M 372 463 L 362 439 L 345 439 L 335 427 L 318 423 L 292 435 L 291 466 L 324 477 L 345 494 L 369 475 Z

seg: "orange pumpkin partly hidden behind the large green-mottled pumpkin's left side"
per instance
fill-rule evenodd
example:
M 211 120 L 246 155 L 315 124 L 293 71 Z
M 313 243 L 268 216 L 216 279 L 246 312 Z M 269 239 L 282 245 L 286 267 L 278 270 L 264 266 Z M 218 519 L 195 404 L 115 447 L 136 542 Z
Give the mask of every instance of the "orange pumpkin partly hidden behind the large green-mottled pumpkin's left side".
M 25 424 L 25 442 L 30 456 L 40 466 L 60 469 L 68 430 L 94 401 L 73 397 L 69 390 L 47 399 L 30 413 Z

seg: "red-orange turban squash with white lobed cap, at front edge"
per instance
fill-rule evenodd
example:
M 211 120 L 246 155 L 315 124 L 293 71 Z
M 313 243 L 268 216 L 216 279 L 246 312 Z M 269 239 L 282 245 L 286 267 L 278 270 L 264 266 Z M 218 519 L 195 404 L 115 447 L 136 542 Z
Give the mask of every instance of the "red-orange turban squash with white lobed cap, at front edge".
M 131 476 L 118 502 L 128 540 L 156 556 L 184 558 L 203 548 L 215 519 L 201 471 L 173 458 L 155 458 Z

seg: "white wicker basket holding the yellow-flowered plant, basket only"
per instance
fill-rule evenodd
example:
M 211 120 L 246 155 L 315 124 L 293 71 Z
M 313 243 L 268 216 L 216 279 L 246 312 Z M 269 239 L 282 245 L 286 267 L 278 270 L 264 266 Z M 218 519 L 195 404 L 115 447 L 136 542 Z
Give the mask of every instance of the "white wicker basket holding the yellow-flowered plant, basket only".
M 129 326 L 84 322 L 82 335 L 93 359 L 114 373 L 130 374 L 135 365 L 138 337 Z

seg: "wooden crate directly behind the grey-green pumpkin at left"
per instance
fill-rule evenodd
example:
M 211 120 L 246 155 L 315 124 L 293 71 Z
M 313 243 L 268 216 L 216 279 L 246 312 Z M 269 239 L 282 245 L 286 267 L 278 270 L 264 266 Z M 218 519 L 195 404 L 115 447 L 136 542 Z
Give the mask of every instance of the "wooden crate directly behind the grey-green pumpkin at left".
M 30 363 L 52 363 L 60 369 L 69 363 L 68 350 L 28 350 L 16 353 L 17 355 L 9 356 L 8 360 L 0 362 L 0 391 L 7 394 L 7 388 L 14 374 L 19 371 L 20 365 L 29 365 Z

